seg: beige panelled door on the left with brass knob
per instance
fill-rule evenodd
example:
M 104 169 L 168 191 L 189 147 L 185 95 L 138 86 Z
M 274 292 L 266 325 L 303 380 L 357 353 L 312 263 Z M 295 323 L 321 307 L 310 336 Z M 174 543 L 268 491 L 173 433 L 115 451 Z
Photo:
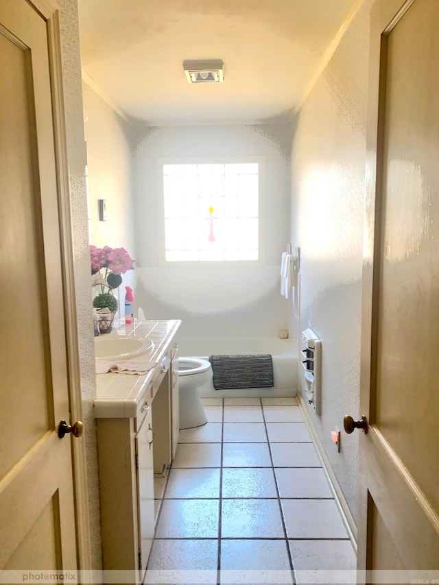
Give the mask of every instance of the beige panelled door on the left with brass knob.
M 58 438 L 61 419 L 69 421 L 69 396 L 47 47 L 38 12 L 25 0 L 1 0 L 3 571 L 76 567 L 71 436 Z

